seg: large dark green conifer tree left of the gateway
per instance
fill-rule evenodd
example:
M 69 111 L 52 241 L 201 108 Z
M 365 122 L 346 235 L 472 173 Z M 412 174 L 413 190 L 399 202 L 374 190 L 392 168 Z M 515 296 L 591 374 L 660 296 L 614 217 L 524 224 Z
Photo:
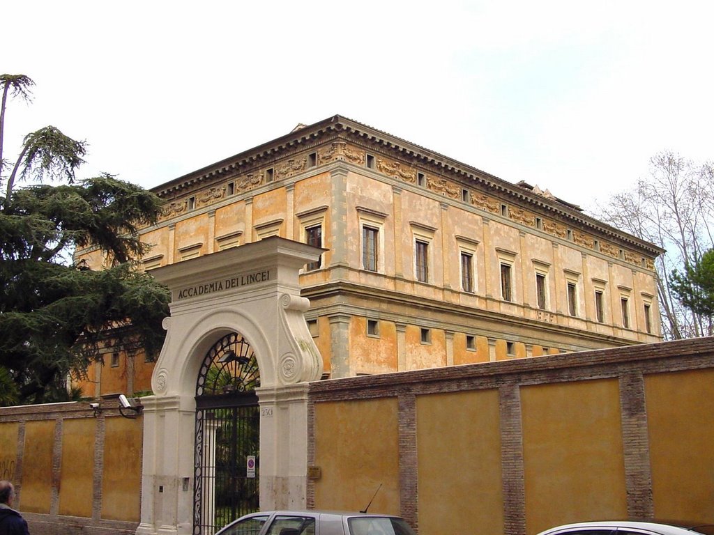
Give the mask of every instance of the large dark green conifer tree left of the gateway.
M 14 89 L 8 76 L 3 106 L 10 89 L 26 96 L 31 85 Z M 147 250 L 139 228 L 156 223 L 161 200 L 109 174 L 75 180 L 84 151 L 52 126 L 31 133 L 0 197 L 0 404 L 78 399 L 66 378 L 83 375 L 100 347 L 154 355 L 164 340 L 169 290 L 134 263 Z M 34 184 L 14 188 L 18 172 Z M 99 270 L 75 263 L 78 249 Z

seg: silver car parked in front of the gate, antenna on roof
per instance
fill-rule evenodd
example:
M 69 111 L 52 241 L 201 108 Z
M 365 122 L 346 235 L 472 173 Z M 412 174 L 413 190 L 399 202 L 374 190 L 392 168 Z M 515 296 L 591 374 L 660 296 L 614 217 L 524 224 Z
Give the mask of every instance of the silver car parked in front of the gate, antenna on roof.
M 246 514 L 216 535 L 415 535 L 399 516 L 326 511 Z

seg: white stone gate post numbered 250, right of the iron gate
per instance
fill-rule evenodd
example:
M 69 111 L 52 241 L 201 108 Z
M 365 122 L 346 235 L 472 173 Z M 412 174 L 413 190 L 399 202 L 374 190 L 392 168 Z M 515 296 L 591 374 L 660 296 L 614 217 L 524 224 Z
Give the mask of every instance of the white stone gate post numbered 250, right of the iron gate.
M 261 510 L 306 509 L 308 383 L 256 389 L 261 407 Z

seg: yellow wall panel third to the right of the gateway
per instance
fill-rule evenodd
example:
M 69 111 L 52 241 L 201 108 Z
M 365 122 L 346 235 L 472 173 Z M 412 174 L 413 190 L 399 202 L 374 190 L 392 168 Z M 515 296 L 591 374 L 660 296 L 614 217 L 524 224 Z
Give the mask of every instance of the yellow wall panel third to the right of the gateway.
M 522 387 L 521 409 L 526 533 L 626 517 L 618 379 Z

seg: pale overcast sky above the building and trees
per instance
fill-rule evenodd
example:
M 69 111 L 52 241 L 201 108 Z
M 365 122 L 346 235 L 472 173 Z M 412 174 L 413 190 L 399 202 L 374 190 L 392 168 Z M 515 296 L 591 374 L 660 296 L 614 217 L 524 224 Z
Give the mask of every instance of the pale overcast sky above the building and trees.
M 714 3 L 5 3 L 6 158 L 53 125 L 78 176 L 152 188 L 339 114 L 583 208 L 661 151 L 714 160 Z

